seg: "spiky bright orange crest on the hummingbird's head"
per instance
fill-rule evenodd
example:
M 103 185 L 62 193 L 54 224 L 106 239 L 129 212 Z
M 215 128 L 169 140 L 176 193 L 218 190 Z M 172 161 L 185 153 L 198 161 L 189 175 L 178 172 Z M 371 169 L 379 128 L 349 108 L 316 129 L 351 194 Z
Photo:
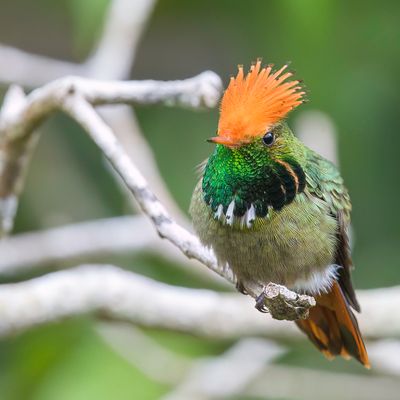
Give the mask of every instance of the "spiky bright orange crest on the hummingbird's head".
M 287 81 L 293 74 L 284 72 L 287 65 L 273 72 L 272 66 L 261 69 L 261 60 L 244 76 L 239 66 L 221 102 L 218 136 L 232 145 L 262 136 L 267 129 L 304 101 L 299 81 Z

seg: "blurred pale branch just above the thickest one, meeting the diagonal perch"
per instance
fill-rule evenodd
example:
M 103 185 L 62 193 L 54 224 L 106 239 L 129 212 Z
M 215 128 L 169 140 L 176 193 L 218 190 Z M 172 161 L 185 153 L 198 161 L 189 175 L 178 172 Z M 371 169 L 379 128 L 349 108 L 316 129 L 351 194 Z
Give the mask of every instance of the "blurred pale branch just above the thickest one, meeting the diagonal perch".
M 39 232 L 28 232 L 0 241 L 0 275 L 16 276 L 60 262 L 121 252 L 151 251 L 177 268 L 227 282 L 196 260 L 188 260 L 179 249 L 160 240 L 153 225 L 143 215 L 115 217 L 65 225 Z

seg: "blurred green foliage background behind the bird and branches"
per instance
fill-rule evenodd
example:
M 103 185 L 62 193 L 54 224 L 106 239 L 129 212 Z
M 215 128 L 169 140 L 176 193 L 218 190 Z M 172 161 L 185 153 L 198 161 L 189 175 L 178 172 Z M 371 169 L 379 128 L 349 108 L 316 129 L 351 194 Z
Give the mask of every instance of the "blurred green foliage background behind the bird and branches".
M 0 0 L 0 42 L 80 61 L 93 48 L 108 5 L 108 0 Z M 290 122 L 302 112 L 320 110 L 337 130 L 341 171 L 353 201 L 355 285 L 392 286 L 400 284 L 399 18 L 397 1 L 161 0 L 131 77 L 179 79 L 211 69 L 226 83 L 237 64 L 249 65 L 257 57 L 278 65 L 290 60 L 310 99 Z M 4 94 L 5 87 L 1 90 Z M 195 166 L 211 150 L 205 139 L 215 131 L 217 110 L 152 106 L 136 107 L 136 113 L 168 187 L 187 210 Z M 74 123 L 56 115 L 41 129 L 15 233 L 132 212 L 101 154 Z M 90 261 L 112 262 L 168 283 L 209 287 L 148 253 Z M 2 340 L 0 398 L 150 400 L 168 392 L 168 385 L 116 354 L 94 325 L 90 316 L 73 318 Z M 217 355 L 230 345 L 173 332 L 146 333 L 189 358 Z M 366 373 L 355 362 L 327 362 L 307 342 L 292 346 L 279 362 Z

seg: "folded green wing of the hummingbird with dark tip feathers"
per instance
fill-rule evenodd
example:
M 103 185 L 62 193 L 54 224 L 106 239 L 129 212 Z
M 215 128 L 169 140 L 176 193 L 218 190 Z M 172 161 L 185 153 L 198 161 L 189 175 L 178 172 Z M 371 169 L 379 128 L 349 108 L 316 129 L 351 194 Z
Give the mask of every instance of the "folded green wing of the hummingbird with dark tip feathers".
M 357 311 L 360 305 L 357 301 L 350 271 L 353 263 L 349 245 L 349 227 L 351 202 L 343 178 L 336 166 L 317 153 L 310 151 L 306 168 L 307 189 L 312 196 L 326 203 L 329 211 L 337 220 L 337 247 L 335 263 L 342 268 L 338 270 L 338 282 L 349 304 Z

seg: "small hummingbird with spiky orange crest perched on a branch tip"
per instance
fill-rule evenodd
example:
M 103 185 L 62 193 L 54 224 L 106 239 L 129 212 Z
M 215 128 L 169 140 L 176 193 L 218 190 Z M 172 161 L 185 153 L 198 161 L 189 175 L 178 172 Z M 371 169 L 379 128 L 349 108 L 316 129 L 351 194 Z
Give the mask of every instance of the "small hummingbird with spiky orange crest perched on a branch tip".
M 369 368 L 352 310 L 351 202 L 337 167 L 291 131 L 287 114 L 305 90 L 288 65 L 257 60 L 231 77 L 211 156 L 200 168 L 189 212 L 201 242 L 234 273 L 239 291 L 269 282 L 315 297 L 298 327 L 329 359 Z M 263 292 L 256 308 L 264 309 Z

